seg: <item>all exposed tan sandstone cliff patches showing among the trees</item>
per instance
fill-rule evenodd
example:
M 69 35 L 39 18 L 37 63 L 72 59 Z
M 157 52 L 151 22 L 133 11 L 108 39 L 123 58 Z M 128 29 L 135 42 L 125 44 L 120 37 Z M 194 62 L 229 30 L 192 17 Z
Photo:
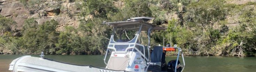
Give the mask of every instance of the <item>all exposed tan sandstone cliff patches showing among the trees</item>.
M 38 17 L 38 14 L 35 13 L 30 15 L 28 9 L 20 3 L 19 0 L 0 0 L 0 15 L 13 19 L 17 22 L 17 29 L 21 29 L 24 23 L 24 20 L 27 18 L 36 18 L 38 24 L 42 24 L 47 20 L 54 19 L 59 22 L 57 30 L 63 31 L 65 26 L 78 27 L 78 17 L 76 16 L 80 11 L 77 10 L 76 4 L 82 4 L 79 2 L 69 2 L 70 0 L 63 0 L 61 4 L 60 14 L 57 15 L 54 12 L 54 8 L 48 6 L 46 9 L 40 10 L 42 18 Z M 247 2 L 256 2 L 256 0 L 226 0 L 227 3 L 235 4 L 245 4 Z M 47 3 L 51 4 L 50 1 Z M 125 5 L 124 0 L 114 0 L 114 6 L 117 8 L 123 8 Z M 178 19 L 178 15 L 175 13 L 165 14 L 167 20 Z M 92 15 L 88 15 L 85 19 L 93 18 Z M 228 23 L 230 26 L 234 26 L 238 23 L 237 16 L 227 16 Z

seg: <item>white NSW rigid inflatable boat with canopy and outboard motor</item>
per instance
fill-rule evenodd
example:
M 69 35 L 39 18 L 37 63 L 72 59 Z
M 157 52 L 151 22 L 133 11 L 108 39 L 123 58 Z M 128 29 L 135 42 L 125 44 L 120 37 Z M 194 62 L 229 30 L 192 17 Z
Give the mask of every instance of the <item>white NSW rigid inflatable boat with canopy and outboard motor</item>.
M 182 72 L 185 61 L 181 48 L 151 47 L 151 32 L 165 30 L 150 23 L 153 19 L 135 17 L 127 21 L 102 23 L 114 28 L 103 59 L 105 68 L 55 61 L 45 57 L 42 52 L 41 57 L 26 55 L 13 60 L 9 64 L 9 70 L 12 72 Z M 177 59 L 166 63 L 165 51 L 178 52 Z M 182 62 L 179 59 L 182 59 Z

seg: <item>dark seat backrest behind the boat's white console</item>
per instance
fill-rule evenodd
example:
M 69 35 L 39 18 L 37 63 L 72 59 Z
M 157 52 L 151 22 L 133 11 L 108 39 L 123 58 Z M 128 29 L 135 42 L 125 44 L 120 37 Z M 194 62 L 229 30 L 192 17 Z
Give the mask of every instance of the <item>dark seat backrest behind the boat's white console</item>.
M 163 46 L 155 46 L 150 55 L 151 62 L 162 62 Z

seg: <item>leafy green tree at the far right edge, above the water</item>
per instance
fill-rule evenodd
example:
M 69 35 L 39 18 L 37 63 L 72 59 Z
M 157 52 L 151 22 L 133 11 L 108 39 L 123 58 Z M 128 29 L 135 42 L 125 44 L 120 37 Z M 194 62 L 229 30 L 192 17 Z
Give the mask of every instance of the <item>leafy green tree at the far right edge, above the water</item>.
M 249 5 L 249 6 L 246 6 Z M 255 3 L 249 2 L 242 5 L 243 9 L 240 10 L 241 13 L 239 21 L 241 22 L 239 26 L 230 29 L 228 33 L 229 39 L 234 42 L 231 46 L 232 52 L 245 53 L 245 56 L 255 56 L 255 39 L 256 39 L 256 13 L 255 7 L 250 6 L 255 5 Z M 238 49 L 242 50 L 239 51 Z M 238 54 L 239 55 L 239 54 Z M 241 56 L 243 56 L 241 55 Z

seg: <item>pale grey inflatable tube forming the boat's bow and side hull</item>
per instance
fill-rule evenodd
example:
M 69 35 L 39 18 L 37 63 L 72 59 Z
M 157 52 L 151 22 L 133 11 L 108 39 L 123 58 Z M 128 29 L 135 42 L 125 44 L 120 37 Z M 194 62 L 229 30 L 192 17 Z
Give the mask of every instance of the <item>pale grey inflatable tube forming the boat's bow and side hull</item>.
M 22 56 L 13 60 L 9 70 L 13 72 L 125 72 L 91 65 L 73 65 L 31 56 Z

